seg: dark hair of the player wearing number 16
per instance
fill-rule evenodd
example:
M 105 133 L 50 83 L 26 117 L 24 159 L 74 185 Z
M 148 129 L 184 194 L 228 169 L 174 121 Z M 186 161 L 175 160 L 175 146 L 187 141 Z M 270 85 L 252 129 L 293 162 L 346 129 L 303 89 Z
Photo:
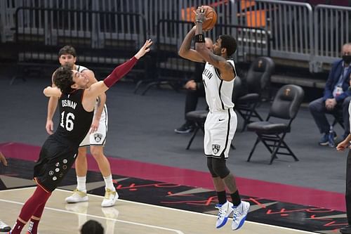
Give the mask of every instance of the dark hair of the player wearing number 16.
M 74 81 L 72 79 L 72 67 L 63 66 L 55 70 L 53 74 L 53 83 L 58 86 L 62 93 L 71 93 L 74 89 L 71 88 Z

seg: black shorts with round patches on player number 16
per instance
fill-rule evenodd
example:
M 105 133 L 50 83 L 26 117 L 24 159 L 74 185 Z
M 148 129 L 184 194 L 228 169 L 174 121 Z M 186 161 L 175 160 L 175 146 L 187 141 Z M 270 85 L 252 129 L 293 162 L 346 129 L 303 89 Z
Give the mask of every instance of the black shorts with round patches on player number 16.
M 34 165 L 34 180 L 47 192 L 57 188 L 74 164 L 78 145 L 60 142 L 52 135 L 45 141 Z

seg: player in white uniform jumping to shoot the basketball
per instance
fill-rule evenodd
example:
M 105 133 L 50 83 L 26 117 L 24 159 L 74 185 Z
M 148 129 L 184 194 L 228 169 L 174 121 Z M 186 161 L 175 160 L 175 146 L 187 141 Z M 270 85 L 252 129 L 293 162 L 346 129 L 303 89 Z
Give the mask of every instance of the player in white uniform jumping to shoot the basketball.
M 213 44 L 213 53 L 206 48 L 202 25 L 209 20 L 206 18 L 207 9 L 203 6 L 197 8 L 196 25 L 185 36 L 179 55 L 194 62 L 206 63 L 202 79 L 209 112 L 205 122 L 204 154 L 218 196 L 216 228 L 222 228 L 233 212 L 232 230 L 237 230 L 244 224 L 250 208 L 249 202 L 241 201 L 235 178 L 225 164 L 237 129 L 237 115 L 232 103 L 237 72 L 234 61 L 230 59 L 237 50 L 237 41 L 230 35 L 220 35 Z M 195 50 L 190 48 L 192 38 L 195 38 Z M 227 200 L 225 187 L 232 202 Z

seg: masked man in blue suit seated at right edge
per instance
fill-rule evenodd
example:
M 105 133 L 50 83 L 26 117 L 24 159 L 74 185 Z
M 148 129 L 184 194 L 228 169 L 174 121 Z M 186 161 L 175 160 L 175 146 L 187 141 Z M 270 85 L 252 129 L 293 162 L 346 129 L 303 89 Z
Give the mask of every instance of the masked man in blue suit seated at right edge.
M 342 50 L 343 59 L 333 63 L 329 77 L 326 80 L 324 88 L 324 96 L 313 100 L 308 108 L 316 122 L 322 138 L 319 145 L 328 145 L 328 135 L 330 124 L 326 119 L 326 113 L 330 113 L 335 117 L 343 113 L 343 124 L 345 132 L 343 138 L 350 133 L 348 106 L 351 100 L 351 91 L 349 79 L 351 73 L 351 43 L 343 45 Z M 336 134 L 334 134 L 336 138 Z

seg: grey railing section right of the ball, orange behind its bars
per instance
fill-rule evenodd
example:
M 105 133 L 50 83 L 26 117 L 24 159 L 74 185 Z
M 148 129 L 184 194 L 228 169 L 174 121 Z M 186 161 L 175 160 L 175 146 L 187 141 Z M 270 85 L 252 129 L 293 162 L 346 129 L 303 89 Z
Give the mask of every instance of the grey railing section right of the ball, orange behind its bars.
M 272 38 L 272 57 L 310 61 L 313 55 L 313 11 L 293 1 L 239 1 L 238 25 L 264 28 Z

